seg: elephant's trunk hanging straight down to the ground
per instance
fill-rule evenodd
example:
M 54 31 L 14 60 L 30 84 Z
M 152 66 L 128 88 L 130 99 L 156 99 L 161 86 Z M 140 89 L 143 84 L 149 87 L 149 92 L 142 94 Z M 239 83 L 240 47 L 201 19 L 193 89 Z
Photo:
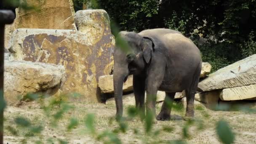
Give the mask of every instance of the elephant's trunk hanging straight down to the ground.
M 128 75 L 128 67 L 120 68 L 115 65 L 114 67 L 114 95 L 115 104 L 117 108 L 116 118 L 120 119 L 123 116 L 123 82 Z

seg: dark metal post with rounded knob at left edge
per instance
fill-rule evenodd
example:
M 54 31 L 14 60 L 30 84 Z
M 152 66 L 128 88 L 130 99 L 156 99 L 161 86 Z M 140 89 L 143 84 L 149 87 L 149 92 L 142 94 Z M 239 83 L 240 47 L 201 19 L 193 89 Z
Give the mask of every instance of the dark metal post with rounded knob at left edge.
M 0 0 L 0 8 L 3 8 L 2 0 Z M 15 16 L 13 11 L 0 10 L 0 144 L 3 144 L 3 73 L 4 73 L 4 33 L 5 24 L 13 23 Z

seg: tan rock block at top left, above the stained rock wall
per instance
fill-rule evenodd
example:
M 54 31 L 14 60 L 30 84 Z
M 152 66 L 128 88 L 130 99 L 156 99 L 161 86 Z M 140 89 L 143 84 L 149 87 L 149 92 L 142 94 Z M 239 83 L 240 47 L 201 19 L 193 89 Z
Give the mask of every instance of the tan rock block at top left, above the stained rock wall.
M 26 0 L 35 9 L 16 8 L 13 30 L 19 28 L 75 29 L 72 0 Z

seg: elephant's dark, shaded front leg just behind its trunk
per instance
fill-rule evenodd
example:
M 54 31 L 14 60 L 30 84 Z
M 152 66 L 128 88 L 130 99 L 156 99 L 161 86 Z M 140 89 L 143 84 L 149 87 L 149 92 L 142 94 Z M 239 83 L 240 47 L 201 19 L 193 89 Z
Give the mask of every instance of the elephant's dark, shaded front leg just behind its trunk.
M 145 78 L 133 75 L 133 91 L 135 96 L 136 108 L 139 109 L 141 119 L 145 117 Z

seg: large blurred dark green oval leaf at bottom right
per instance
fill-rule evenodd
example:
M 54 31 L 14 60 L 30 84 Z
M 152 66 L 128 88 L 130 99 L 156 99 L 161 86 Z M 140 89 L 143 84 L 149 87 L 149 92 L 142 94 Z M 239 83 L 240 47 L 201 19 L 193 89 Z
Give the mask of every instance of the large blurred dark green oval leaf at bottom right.
M 216 131 L 219 139 L 224 144 L 232 144 L 235 141 L 235 135 L 229 128 L 229 124 L 225 121 L 219 121 L 216 126 Z

